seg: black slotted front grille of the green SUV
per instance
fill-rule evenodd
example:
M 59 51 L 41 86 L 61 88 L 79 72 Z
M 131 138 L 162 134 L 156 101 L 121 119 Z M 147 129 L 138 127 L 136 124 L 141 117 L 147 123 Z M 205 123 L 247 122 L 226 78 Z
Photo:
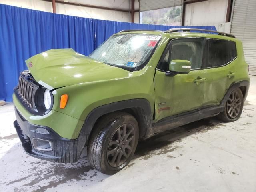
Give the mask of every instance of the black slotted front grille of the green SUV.
M 26 80 L 22 75 L 19 78 L 18 94 L 30 108 L 33 107 L 35 88 L 31 82 Z

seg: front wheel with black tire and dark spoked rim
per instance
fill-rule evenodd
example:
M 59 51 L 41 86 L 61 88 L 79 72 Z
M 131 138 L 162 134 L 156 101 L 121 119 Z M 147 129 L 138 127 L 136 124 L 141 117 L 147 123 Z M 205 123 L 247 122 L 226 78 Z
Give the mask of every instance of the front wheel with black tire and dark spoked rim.
M 138 122 L 132 115 L 113 112 L 102 116 L 94 126 L 88 143 L 90 164 L 104 174 L 115 174 L 132 159 L 138 139 Z

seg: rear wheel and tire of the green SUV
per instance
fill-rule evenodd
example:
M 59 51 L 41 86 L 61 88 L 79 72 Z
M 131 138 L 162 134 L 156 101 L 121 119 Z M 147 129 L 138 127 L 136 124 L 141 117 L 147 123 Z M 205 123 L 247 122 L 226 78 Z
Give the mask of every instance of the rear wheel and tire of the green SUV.
M 224 122 L 233 122 L 240 118 L 244 107 L 244 96 L 240 88 L 234 89 L 225 105 L 223 112 L 218 114 L 218 118 Z M 233 113 L 232 113 L 233 111 Z

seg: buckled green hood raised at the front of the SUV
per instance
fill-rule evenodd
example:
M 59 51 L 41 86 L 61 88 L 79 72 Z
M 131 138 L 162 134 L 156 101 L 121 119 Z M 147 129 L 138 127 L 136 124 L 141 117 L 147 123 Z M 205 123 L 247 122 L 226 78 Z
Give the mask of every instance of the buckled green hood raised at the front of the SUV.
M 78 54 L 73 49 L 48 50 L 26 60 L 26 65 L 34 79 L 50 90 L 132 75 L 132 72 Z

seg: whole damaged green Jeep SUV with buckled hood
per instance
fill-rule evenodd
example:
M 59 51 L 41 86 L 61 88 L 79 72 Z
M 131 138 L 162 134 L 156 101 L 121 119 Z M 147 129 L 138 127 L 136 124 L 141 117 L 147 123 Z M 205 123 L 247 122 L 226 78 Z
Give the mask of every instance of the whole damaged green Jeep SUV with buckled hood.
M 48 50 L 28 60 L 13 101 L 24 150 L 114 174 L 138 140 L 216 116 L 238 120 L 250 78 L 242 42 L 200 29 L 125 30 L 89 56 Z

